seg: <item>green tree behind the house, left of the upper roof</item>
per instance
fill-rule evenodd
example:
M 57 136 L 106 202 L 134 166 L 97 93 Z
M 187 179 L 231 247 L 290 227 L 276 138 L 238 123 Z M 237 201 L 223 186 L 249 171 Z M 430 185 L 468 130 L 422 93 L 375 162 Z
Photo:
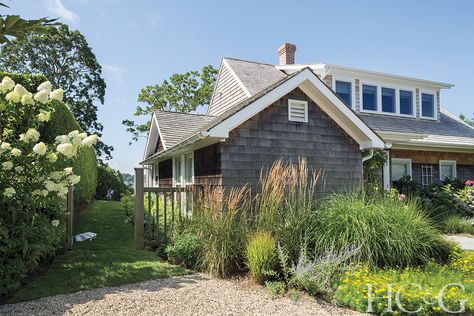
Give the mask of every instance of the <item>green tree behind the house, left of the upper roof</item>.
M 155 110 L 189 113 L 199 106 L 209 104 L 217 72 L 213 66 L 207 65 L 200 72 L 175 73 L 161 84 L 147 86 L 140 91 L 138 96 L 138 101 L 146 105 L 137 106 L 133 115 L 149 117 Z M 150 128 L 150 121 L 139 124 L 125 119 L 122 124 L 127 126 L 127 132 L 132 134 L 132 141 L 146 136 Z

